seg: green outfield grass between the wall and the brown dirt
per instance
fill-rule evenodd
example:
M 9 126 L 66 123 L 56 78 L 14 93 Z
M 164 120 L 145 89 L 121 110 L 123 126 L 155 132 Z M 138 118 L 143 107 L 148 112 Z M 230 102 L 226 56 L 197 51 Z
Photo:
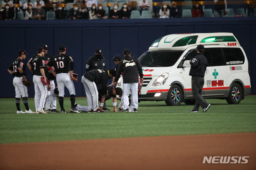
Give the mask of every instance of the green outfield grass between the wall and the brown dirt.
M 164 101 L 140 102 L 138 113 L 114 113 L 110 100 L 111 111 L 105 113 L 16 114 L 15 99 L 1 98 L 0 143 L 256 132 L 256 95 L 233 105 L 207 101 L 212 106 L 206 113 L 190 113 L 193 106 L 166 106 Z M 85 105 L 86 98 L 77 97 L 76 103 Z M 29 106 L 34 111 L 33 98 Z M 69 98 L 64 106 L 69 111 Z M 22 100 L 21 109 L 25 111 Z

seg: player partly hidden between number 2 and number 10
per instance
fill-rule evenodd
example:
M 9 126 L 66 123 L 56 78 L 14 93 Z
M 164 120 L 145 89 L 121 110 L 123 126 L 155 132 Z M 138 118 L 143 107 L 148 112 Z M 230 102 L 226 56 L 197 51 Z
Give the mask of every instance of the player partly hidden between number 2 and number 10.
M 43 61 L 44 61 L 44 64 L 47 65 L 47 63 L 52 59 L 52 56 L 47 53 L 48 49 L 50 49 L 50 48 L 46 44 L 41 45 L 41 47 L 44 48 Z M 48 87 L 50 87 L 50 90 L 48 88 L 47 95 L 46 95 L 46 103 L 45 103 L 46 112 L 58 113 L 58 111 L 56 110 L 56 108 L 57 108 L 56 95 L 54 94 L 55 76 L 51 72 L 48 71 L 47 67 L 44 68 L 44 73 L 45 73 L 47 79 L 50 81 L 50 86 L 48 86 Z M 50 104 L 52 104 L 52 109 L 50 108 Z

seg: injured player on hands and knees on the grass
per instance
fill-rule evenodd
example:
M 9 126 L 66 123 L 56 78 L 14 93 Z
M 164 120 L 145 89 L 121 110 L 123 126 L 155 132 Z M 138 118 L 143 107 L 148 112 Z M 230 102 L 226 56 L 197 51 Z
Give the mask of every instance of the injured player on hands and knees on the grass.
M 100 101 L 100 111 L 104 112 L 104 111 L 102 111 L 104 101 L 109 100 L 112 97 L 113 98 L 113 112 L 117 112 L 116 96 L 118 95 L 119 97 L 121 97 L 123 94 L 123 90 L 120 87 L 107 86 L 107 94 L 102 94 L 102 92 L 100 90 L 98 92 L 99 92 L 98 100 Z M 80 104 L 75 104 L 75 108 L 81 112 L 88 112 L 87 106 L 81 106 Z

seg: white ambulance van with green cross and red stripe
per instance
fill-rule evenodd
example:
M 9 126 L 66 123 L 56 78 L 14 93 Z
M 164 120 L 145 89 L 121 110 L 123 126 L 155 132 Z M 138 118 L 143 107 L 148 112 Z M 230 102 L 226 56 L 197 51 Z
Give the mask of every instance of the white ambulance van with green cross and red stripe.
M 189 60 L 199 44 L 204 45 L 208 60 L 202 96 L 238 104 L 249 95 L 248 61 L 232 33 L 171 34 L 155 40 L 139 57 L 145 81 L 139 101 L 165 101 L 168 106 L 194 104 Z M 123 87 L 122 79 L 117 86 Z

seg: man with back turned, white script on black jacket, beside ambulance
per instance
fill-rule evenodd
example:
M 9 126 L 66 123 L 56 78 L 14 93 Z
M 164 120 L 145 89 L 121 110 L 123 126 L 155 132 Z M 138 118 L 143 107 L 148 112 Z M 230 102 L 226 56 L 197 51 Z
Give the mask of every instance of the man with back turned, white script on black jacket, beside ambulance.
M 115 82 L 117 83 L 123 72 L 123 94 L 124 94 L 124 111 L 130 112 L 129 110 L 129 92 L 132 90 L 132 103 L 131 108 L 133 112 L 138 112 L 138 82 L 140 75 L 140 82 L 143 83 L 142 66 L 137 58 L 131 56 L 129 49 L 124 49 L 124 58 L 118 64 L 117 75 Z M 138 75 L 139 74 L 139 75 Z

